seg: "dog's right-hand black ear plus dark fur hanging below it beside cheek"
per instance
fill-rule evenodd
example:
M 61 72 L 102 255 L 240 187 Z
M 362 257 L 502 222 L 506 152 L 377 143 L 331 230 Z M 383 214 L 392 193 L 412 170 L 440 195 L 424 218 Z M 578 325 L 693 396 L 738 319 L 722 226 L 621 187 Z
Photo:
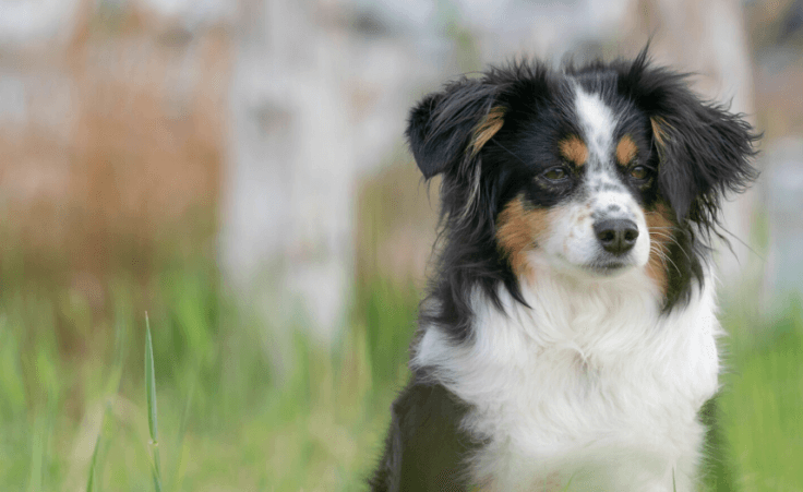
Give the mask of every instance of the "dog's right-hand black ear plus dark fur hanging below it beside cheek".
M 619 64 L 619 93 L 659 121 L 666 133 L 664 145 L 655 136 L 654 144 L 661 163 L 658 192 L 671 205 L 679 226 L 678 243 L 670 247 L 678 265 L 669 272 L 671 308 L 688 299 L 692 280 L 702 284 L 700 257 L 710 250 L 711 235 L 728 243 L 719 232 L 721 200 L 757 178 L 751 158 L 759 135 L 752 133 L 743 115 L 700 100 L 688 89 L 687 74 L 650 67 L 646 49 L 630 67 Z

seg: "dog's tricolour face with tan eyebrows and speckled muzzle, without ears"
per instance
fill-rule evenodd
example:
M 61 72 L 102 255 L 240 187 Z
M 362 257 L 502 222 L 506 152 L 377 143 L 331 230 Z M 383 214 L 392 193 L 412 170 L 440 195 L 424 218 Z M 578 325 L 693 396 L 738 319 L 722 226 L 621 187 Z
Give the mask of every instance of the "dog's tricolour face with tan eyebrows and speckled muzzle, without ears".
M 500 131 L 503 152 L 489 152 L 481 164 L 522 160 L 514 181 L 520 188 L 496 220 L 500 248 L 519 275 L 538 264 L 592 278 L 643 268 L 650 256 L 648 214 L 658 213 L 649 118 L 577 82 L 564 85 L 540 117 L 512 111 L 518 131 Z

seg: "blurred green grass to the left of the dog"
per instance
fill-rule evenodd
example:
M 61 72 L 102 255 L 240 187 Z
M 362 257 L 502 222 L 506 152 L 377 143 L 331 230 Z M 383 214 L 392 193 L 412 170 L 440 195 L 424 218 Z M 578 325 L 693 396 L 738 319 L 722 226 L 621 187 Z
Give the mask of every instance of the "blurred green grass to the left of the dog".
M 158 275 L 147 303 L 165 490 L 352 490 L 406 376 L 403 333 L 411 331 L 395 326 L 412 326 L 417 302 L 412 289 L 370 285 L 376 291 L 360 292 L 364 308 L 338 347 L 296 336 L 293 369 L 279 384 L 264 326 L 236 311 L 208 267 Z M 85 484 L 96 443 L 94 490 L 153 487 L 135 290 L 117 281 L 112 312 L 98 316 L 79 299 L 0 295 L 0 490 Z M 58 320 L 82 319 L 96 329 L 83 353 L 64 356 L 52 336 Z M 382 344 L 395 345 L 387 352 Z

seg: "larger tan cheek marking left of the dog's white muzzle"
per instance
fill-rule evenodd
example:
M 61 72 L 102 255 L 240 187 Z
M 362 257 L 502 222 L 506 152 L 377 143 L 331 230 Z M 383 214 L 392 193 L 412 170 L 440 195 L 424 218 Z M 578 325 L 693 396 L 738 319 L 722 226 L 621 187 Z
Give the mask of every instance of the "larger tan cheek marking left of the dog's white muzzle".
M 546 226 L 547 213 L 539 208 L 528 211 L 522 196 L 508 203 L 499 214 L 496 241 L 516 275 L 532 276 L 532 268 L 527 263 L 527 251 L 535 248 Z

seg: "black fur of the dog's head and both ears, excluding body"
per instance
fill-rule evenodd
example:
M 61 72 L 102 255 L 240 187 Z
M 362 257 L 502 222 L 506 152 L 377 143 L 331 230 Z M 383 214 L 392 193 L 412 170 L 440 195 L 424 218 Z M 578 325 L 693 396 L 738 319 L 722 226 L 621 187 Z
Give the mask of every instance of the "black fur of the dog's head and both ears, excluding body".
M 741 191 L 755 178 L 750 159 L 758 136 L 740 115 L 702 101 L 688 89 L 686 75 L 652 67 L 646 49 L 632 62 L 567 67 L 566 73 L 585 88 L 600 92 L 612 107 L 625 106 L 630 118 L 623 129 L 652 141 L 645 160 L 658 173 L 644 192 L 645 206 L 666 202 L 676 219 L 676 242 L 669 245 L 673 265 L 666 300 L 669 312 L 688 299 L 693 281 L 703 281 L 702 257 L 708 253 L 710 235 L 717 233 L 721 196 Z M 524 302 L 496 244 L 496 215 L 522 191 L 520 183 L 532 180 L 539 165 L 554 164 L 549 148 L 558 137 L 577 131 L 571 94 L 563 73 L 538 62 L 515 62 L 492 68 L 479 79 L 453 82 L 411 111 L 407 136 L 416 161 L 426 179 L 439 173 L 443 178 L 443 249 L 429 295 L 436 302 L 428 303 L 440 309 L 422 312 L 421 322 L 436 323 L 463 340 L 470 335 L 468 296 L 476 286 L 498 305 L 500 284 Z M 493 107 L 505 108 L 504 127 L 472 156 L 467 152 L 472 132 Z M 658 144 L 651 120 L 661 121 L 666 145 Z M 477 166 L 479 203 L 466 216 Z M 526 191 L 538 206 L 560 199 L 555 193 Z

